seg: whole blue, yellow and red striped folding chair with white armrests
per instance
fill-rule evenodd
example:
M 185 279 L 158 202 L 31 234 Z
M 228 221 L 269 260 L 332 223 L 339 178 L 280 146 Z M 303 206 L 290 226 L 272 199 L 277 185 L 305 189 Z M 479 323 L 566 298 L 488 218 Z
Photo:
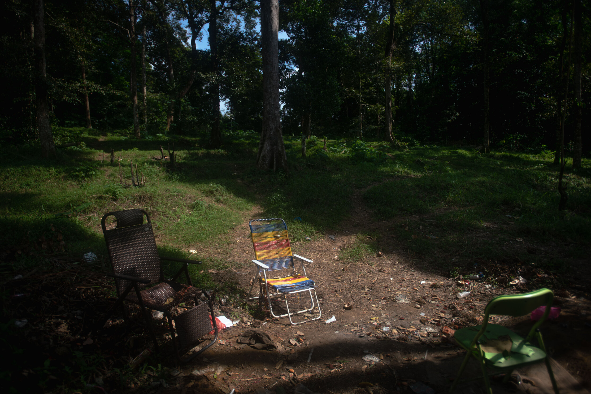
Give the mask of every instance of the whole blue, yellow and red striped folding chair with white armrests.
M 318 320 L 322 316 L 320 311 L 320 304 L 318 296 L 316 295 L 316 284 L 310 278 L 307 278 L 306 268 L 304 262 L 312 263 L 313 261 L 303 258 L 298 255 L 291 254 L 290 239 L 287 236 L 287 224 L 283 219 L 256 219 L 248 222 L 251 227 L 252 245 L 255 249 L 256 273 L 252 279 L 252 286 L 248 292 L 249 299 L 260 299 L 261 301 L 267 299 L 267 305 L 272 317 L 281 318 L 289 317 L 291 324 L 301 324 L 306 321 Z M 299 271 L 296 271 L 294 265 L 294 258 L 301 262 Z M 268 272 L 278 271 L 282 269 L 291 270 L 290 275 L 284 277 L 275 277 L 273 279 L 268 277 Z M 258 297 L 251 297 L 252 289 L 255 284 L 259 284 Z M 288 295 L 307 292 L 310 295 L 310 307 L 304 308 L 297 312 L 290 312 L 288 304 Z M 312 295 L 314 292 L 314 295 Z M 275 315 L 271 304 L 271 297 L 283 297 L 285 300 L 286 314 Z M 300 297 L 298 297 L 300 299 Z M 316 299 L 316 304 L 314 304 Z M 291 320 L 293 315 L 301 313 L 310 313 L 314 308 L 318 308 L 318 316 L 294 323 Z

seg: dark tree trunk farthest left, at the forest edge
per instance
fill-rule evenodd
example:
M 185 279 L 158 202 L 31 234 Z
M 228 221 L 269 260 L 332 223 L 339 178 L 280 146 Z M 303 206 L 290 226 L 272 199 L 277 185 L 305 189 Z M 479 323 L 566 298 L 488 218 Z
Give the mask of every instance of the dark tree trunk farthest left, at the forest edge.
M 41 142 L 41 157 L 48 158 L 56 155 L 56 144 L 51 134 L 49 123 L 49 106 L 47 103 L 47 67 L 45 61 L 45 9 L 43 0 L 33 2 L 33 23 L 35 25 L 35 106 L 37 107 L 37 129 Z

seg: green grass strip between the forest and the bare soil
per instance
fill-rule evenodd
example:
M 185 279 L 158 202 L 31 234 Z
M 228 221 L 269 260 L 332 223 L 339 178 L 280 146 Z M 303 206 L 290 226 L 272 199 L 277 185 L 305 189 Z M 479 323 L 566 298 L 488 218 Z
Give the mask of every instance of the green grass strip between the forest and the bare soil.
M 200 138 L 135 141 L 123 132 L 108 133 L 106 138 L 82 129 L 59 133 L 63 141 L 72 135 L 81 138 L 82 148 L 62 149 L 50 161 L 35 158 L 37 149 L 26 147 L 20 147 L 18 155 L 0 158 L 3 246 L 38 242 L 51 236 L 54 224 L 69 252 L 106 255 L 102 215 L 142 207 L 152 217 L 163 253 L 195 257 L 188 250 L 196 249 L 197 257 L 206 259 L 204 266 L 228 265 L 223 259 L 207 260 L 202 249 L 216 243 L 229 248 L 227 235 L 251 219 L 256 205 L 262 217 L 284 218 L 292 240 L 314 240 L 327 229 L 338 230 L 348 219 L 352 194 L 359 189 L 376 222 L 402 218 L 390 233 L 411 253 L 433 259 L 462 250 L 467 250 L 462 258 L 502 258 L 506 253 L 499 245 L 515 237 L 571 242 L 576 247 L 569 256 L 580 256 L 591 235 L 589 159 L 583 159 L 584 170 L 567 168 L 569 210 L 559 212 L 557 167 L 551 164 L 550 152 L 480 155 L 474 149 L 393 149 L 384 142 L 329 139 L 326 152 L 322 141 L 310 141 L 308 157 L 302 159 L 299 137 L 285 136 L 289 171 L 272 173 L 254 167 L 257 133 L 235 132 L 215 150 L 204 148 L 206 140 Z M 174 172 L 168 162 L 163 166 L 152 159 L 160 157 L 160 145 L 168 154 L 173 143 Z M 109 162 L 112 149 L 114 164 Z M 144 186 L 129 186 L 130 162 L 144 174 Z M 119 182 L 119 163 L 126 186 Z M 64 212 L 72 214 L 56 217 Z M 372 228 L 358 230 L 363 235 Z M 489 235 L 474 239 L 474 232 Z M 341 258 L 361 261 L 387 244 L 385 235 L 372 243 L 362 238 L 343 250 Z

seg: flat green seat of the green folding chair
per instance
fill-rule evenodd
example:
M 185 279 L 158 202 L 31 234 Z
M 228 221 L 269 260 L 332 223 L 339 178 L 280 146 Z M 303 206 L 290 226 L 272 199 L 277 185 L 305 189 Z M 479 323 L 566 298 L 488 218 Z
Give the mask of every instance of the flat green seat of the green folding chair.
M 456 330 L 454 338 L 460 346 L 469 350 L 470 344 L 480 328 L 482 325 L 461 328 Z M 482 343 L 486 366 L 493 369 L 514 369 L 543 362 L 546 357 L 545 351 L 533 346 L 529 341 L 525 341 L 524 338 L 502 325 L 486 325 L 479 340 Z M 478 349 L 473 347 L 472 351 L 477 352 Z

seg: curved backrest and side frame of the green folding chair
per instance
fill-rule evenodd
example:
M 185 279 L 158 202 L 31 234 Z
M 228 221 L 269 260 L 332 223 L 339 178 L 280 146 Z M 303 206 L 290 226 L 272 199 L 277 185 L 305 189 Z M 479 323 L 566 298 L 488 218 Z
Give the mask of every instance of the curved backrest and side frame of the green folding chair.
M 474 337 L 470 349 L 485 332 L 489 315 L 523 316 L 535 310 L 535 308 L 545 305 L 546 310 L 544 311 L 544 315 L 534 324 L 530 333 L 525 338 L 525 341 L 530 340 L 531 337 L 534 336 L 535 330 L 540 327 L 540 324 L 544 323 L 544 320 L 546 320 L 548 314 L 550 314 L 550 308 L 552 307 L 553 301 L 554 293 L 546 288 L 525 294 L 499 295 L 499 297 L 491 299 L 485 308 L 484 318 L 482 319 L 482 328 L 480 328 L 480 331 L 478 331 L 478 334 Z

